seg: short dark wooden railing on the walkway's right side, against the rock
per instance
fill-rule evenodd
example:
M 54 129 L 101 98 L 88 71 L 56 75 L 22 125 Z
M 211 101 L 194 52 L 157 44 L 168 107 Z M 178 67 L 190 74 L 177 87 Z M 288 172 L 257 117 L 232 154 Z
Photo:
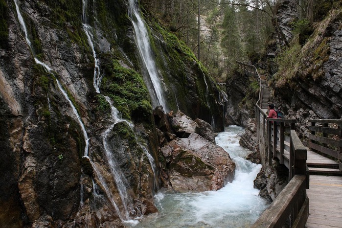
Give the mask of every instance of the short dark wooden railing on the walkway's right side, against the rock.
M 309 122 L 309 147 L 337 160 L 342 171 L 342 119 L 309 119 Z

